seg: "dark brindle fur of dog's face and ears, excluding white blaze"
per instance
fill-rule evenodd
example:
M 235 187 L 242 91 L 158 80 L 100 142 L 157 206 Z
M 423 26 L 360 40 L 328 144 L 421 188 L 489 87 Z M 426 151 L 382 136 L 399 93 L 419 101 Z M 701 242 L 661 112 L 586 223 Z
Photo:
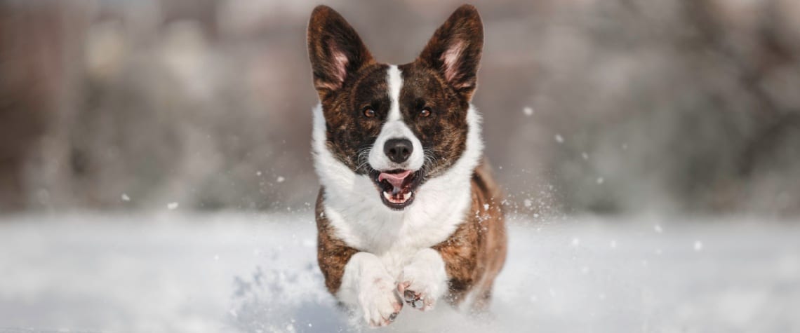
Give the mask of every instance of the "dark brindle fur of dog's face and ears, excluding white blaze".
M 478 11 L 462 6 L 434 33 L 416 61 L 398 66 L 403 80 L 400 112 L 430 157 L 425 165 L 428 178 L 450 168 L 466 147 L 466 110 L 477 87 L 482 31 Z M 454 66 L 466 72 L 448 81 L 440 58 L 457 37 L 468 57 Z M 363 160 L 364 152 L 378 137 L 390 109 L 388 65 L 375 62 L 350 24 L 326 6 L 311 14 L 308 50 L 326 121 L 327 147 L 354 172 L 368 174 L 372 170 Z M 336 57 L 331 53 L 351 57 L 343 77 L 330 61 Z M 367 108 L 376 116 L 364 117 Z M 430 117 L 419 117 L 424 108 L 430 109 Z

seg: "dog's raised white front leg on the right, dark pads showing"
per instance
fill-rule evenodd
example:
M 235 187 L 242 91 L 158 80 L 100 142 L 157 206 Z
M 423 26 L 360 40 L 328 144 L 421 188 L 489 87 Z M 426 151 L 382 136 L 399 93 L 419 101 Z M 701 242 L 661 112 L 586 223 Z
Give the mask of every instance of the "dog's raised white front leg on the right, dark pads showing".
M 400 295 L 411 307 L 421 311 L 434 308 L 436 300 L 447 290 L 447 272 L 442 256 L 433 248 L 419 250 L 398 283 Z

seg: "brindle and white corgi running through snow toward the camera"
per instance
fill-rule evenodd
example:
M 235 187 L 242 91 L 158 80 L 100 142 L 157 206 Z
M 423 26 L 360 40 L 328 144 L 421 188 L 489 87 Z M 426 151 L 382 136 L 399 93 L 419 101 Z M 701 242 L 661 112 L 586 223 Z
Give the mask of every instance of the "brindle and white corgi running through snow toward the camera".
M 307 34 L 328 291 L 373 327 L 394 321 L 404 302 L 486 309 L 507 240 L 470 103 L 483 46 L 478 10 L 455 10 L 405 65 L 375 61 L 328 6 L 314 9 Z

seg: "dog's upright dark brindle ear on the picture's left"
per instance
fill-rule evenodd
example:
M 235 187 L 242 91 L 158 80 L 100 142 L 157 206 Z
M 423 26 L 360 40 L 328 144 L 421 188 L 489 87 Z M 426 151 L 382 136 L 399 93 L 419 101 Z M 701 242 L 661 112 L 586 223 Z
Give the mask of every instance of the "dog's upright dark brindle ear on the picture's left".
M 341 89 L 348 75 L 374 62 L 353 27 L 329 6 L 311 12 L 307 42 L 320 100 Z

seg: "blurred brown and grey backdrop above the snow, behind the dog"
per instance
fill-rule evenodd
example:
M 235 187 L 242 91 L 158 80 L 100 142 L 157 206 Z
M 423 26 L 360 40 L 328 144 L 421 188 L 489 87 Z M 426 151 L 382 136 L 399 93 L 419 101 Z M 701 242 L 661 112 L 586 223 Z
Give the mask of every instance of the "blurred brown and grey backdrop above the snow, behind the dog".
M 461 2 L 328 3 L 405 63 Z M 3 0 L 0 210 L 307 208 L 317 4 Z M 474 4 L 515 212 L 800 213 L 800 2 Z

